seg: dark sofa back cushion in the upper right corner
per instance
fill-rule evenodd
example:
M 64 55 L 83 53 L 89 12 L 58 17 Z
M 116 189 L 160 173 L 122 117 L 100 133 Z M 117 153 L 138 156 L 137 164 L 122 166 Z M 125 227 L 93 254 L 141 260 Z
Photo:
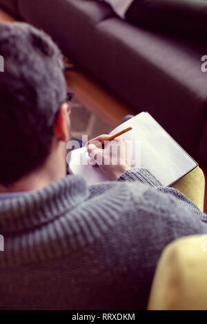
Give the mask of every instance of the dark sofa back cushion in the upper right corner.
M 206 0 L 134 0 L 126 19 L 150 30 L 206 39 Z

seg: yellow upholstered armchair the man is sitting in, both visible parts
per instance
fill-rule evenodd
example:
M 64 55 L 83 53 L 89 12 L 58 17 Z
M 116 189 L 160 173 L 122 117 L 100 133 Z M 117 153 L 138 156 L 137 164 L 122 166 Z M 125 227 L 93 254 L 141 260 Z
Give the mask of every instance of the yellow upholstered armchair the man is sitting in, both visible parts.
M 173 187 L 203 211 L 205 178 L 199 167 Z M 207 310 L 207 234 L 187 236 L 166 246 L 155 272 L 148 310 Z

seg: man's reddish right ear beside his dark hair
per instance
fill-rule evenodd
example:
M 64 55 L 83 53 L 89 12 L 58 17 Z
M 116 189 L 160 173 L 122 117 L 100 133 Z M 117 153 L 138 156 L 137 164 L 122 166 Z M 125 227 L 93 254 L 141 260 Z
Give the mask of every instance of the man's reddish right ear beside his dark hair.
M 57 112 L 54 127 L 54 134 L 59 141 L 67 142 L 69 140 L 68 118 L 68 104 L 63 103 Z

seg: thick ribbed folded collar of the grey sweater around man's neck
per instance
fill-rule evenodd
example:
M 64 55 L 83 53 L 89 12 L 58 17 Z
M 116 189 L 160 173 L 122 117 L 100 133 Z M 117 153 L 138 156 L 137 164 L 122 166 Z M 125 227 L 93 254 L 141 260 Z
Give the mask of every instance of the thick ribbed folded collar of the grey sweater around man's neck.
M 24 196 L 0 201 L 0 233 L 37 227 L 70 212 L 88 197 L 86 181 L 66 176 L 46 188 Z

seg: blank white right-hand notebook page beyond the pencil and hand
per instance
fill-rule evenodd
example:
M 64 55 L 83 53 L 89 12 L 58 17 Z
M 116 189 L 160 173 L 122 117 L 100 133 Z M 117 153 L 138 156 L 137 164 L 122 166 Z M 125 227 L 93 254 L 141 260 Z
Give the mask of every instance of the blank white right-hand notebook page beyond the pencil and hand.
M 148 169 L 162 185 L 171 185 L 196 168 L 197 163 L 148 112 L 137 114 L 111 134 L 128 127 L 133 129 L 121 136 L 126 140 L 140 141 L 141 167 Z

